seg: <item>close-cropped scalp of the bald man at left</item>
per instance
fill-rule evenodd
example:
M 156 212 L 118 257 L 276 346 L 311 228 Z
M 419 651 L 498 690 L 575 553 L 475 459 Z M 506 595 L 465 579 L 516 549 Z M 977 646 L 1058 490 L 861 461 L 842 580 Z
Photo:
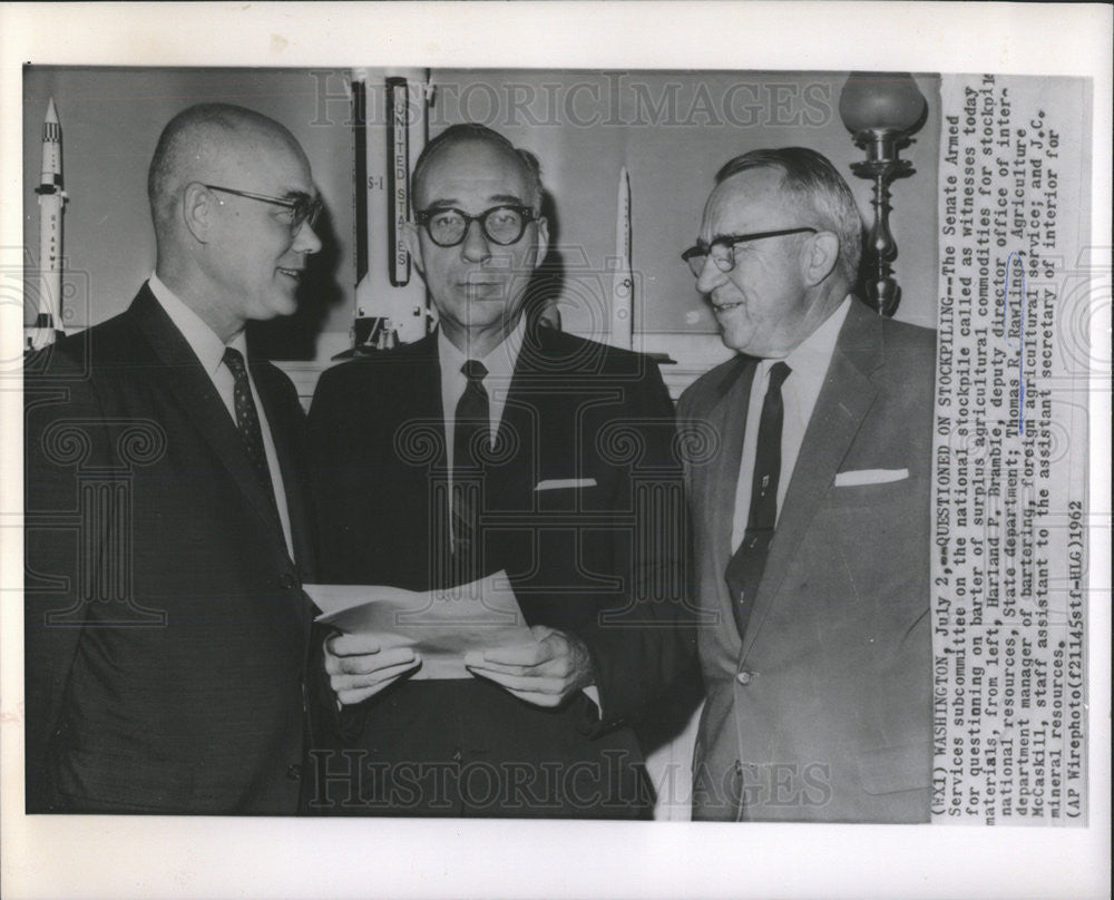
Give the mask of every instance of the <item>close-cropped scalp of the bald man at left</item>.
M 294 136 L 274 119 L 232 104 L 198 104 L 163 129 L 147 174 L 156 236 L 170 232 L 182 189 L 190 182 L 235 183 L 263 148 L 285 148 L 309 165 Z

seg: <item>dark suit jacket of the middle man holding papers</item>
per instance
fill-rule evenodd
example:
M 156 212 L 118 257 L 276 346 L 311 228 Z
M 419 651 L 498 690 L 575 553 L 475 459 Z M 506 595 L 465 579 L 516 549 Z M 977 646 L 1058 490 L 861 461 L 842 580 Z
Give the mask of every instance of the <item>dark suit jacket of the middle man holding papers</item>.
M 310 446 L 329 580 L 411 589 L 440 580 L 448 509 L 438 499 L 441 407 L 436 335 L 322 376 Z M 673 407 L 655 363 L 549 329 L 527 335 L 499 431 L 507 452 L 485 472 L 478 540 L 485 571 L 508 573 L 528 624 L 585 640 L 604 720 L 580 695 L 554 711 L 481 679 L 404 681 L 363 705 L 346 742 L 361 750 L 362 775 L 330 781 L 334 811 L 346 796 L 346 809 L 394 814 L 648 811 L 627 725 L 691 658 L 694 643 L 694 629 L 683 627 L 690 617 L 674 442 Z M 557 479 L 595 483 L 536 490 Z M 351 757 L 334 763 L 333 773 L 355 765 Z M 385 774 L 370 769 L 383 765 Z M 420 771 L 402 771 L 412 765 Z M 483 783 L 489 765 L 491 789 Z M 438 766 L 460 784 L 475 774 L 473 790 L 433 784 Z M 426 780 L 400 789 L 414 779 Z

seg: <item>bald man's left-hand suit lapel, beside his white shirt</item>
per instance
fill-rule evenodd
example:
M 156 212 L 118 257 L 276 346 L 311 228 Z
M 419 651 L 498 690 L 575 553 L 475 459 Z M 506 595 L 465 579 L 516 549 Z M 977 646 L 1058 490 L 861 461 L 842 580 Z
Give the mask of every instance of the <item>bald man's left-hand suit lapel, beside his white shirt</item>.
M 275 520 L 272 502 L 252 467 L 244 441 L 213 380 L 202 368 L 189 343 L 170 322 L 147 285 L 139 291 L 130 312 L 137 327 L 163 363 L 152 372 L 152 378 L 163 379 L 169 391 L 177 397 L 182 409 L 216 452 L 247 501 L 272 529 L 277 530 L 277 538 L 285 547 L 282 527 Z

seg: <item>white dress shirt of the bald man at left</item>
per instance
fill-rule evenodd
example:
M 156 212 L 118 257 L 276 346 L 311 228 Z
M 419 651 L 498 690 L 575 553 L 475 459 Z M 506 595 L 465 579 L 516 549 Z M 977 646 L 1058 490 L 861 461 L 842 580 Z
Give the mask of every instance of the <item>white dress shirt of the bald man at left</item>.
M 150 286 L 150 292 L 155 295 L 155 300 L 158 301 L 166 314 L 170 316 L 170 321 L 182 332 L 182 336 L 186 339 L 186 343 L 194 351 L 194 354 L 202 364 L 202 369 L 205 370 L 205 374 L 213 381 L 213 387 L 216 388 L 216 392 L 221 395 L 221 400 L 228 410 L 228 415 L 232 417 L 233 425 L 235 425 L 236 379 L 228 366 L 224 364 L 224 341 L 217 338 L 216 332 L 206 325 L 204 320 L 167 287 L 155 273 L 152 273 L 150 278 L 148 278 L 148 285 Z M 228 346 L 238 350 L 246 363 L 247 340 L 244 336 L 244 332 L 240 332 L 240 334 L 233 338 Z M 286 508 L 286 490 L 283 486 L 282 469 L 278 467 L 278 456 L 275 452 L 275 443 L 271 437 L 271 424 L 267 422 L 266 410 L 263 408 L 263 403 L 260 402 L 260 394 L 255 390 L 255 380 L 252 378 L 251 366 L 245 368 L 247 369 L 247 381 L 252 387 L 252 400 L 255 402 L 255 409 L 260 415 L 260 429 L 263 431 L 263 450 L 267 456 L 267 468 L 271 469 L 271 483 L 274 487 L 275 506 L 278 507 L 278 519 L 282 521 L 282 532 L 286 539 L 286 550 L 290 552 L 291 559 L 293 559 L 294 542 L 290 532 L 290 510 Z

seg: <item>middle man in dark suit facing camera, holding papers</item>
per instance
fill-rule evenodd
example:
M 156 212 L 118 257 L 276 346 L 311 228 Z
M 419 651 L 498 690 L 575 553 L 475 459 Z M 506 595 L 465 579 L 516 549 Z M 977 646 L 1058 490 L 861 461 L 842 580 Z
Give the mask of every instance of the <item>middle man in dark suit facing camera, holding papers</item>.
M 410 251 L 440 325 L 326 372 L 310 413 L 322 570 L 416 590 L 506 571 L 532 642 L 423 679 L 390 635 L 334 635 L 333 813 L 638 818 L 628 723 L 691 656 L 673 409 L 639 354 L 529 327 L 548 244 L 537 160 L 460 125 L 413 174 Z

